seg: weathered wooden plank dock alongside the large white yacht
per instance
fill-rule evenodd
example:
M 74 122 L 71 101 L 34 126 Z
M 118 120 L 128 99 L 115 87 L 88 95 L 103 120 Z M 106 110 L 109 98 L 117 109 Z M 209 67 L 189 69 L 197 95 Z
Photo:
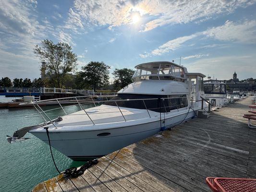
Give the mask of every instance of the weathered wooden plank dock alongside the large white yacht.
M 249 98 L 99 159 L 78 178 L 55 178 L 33 192 L 210 192 L 206 177 L 256 178 L 256 129 Z

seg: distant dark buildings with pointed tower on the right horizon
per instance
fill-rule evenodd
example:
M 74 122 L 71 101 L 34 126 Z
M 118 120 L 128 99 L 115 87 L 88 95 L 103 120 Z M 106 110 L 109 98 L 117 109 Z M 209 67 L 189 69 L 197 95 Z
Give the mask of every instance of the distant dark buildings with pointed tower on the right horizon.
M 224 80 L 224 83 L 226 83 L 230 87 L 230 91 L 233 90 L 239 90 L 239 91 L 253 91 L 255 90 L 255 82 L 243 82 L 240 83 L 239 79 L 237 78 L 237 73 L 234 72 L 233 79 L 230 80 Z

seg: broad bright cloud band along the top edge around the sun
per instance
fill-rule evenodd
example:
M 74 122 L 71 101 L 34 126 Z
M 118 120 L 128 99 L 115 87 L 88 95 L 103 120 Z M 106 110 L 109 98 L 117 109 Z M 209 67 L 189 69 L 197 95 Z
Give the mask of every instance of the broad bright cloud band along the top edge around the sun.
M 70 20 L 79 20 L 85 24 L 108 25 L 109 29 L 125 24 L 132 24 L 132 15 L 138 12 L 146 16 L 144 31 L 166 24 L 203 22 L 221 14 L 230 14 L 238 8 L 255 4 L 255 0 L 75 0 L 70 10 Z M 76 14 L 76 16 L 75 16 Z M 72 23 L 71 23 L 72 24 Z

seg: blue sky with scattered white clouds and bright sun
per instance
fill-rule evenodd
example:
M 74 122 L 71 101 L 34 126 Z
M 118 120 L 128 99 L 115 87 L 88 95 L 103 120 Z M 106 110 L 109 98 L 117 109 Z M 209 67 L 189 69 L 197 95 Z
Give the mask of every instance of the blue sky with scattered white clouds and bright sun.
M 44 39 L 71 45 L 77 71 L 174 60 L 219 80 L 256 78 L 256 0 L 0 0 L 0 78 L 40 77 L 33 49 Z

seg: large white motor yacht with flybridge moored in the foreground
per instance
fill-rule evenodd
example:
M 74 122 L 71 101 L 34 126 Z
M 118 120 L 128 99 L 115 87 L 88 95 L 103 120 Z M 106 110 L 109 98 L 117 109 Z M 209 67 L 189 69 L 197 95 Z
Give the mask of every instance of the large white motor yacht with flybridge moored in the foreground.
M 207 108 L 201 99 L 205 75 L 188 73 L 185 67 L 169 61 L 143 63 L 135 68 L 134 83 L 108 101 L 91 97 L 92 108 L 80 103 L 81 97 L 70 97 L 80 109 L 68 114 L 69 106 L 60 104 L 59 109 L 66 115 L 51 120 L 47 111 L 34 102 L 46 122 L 18 130 L 7 140 L 14 143 L 27 139 L 24 135 L 30 132 L 47 144 L 50 140 L 52 147 L 71 159 L 84 161 L 178 125 Z

